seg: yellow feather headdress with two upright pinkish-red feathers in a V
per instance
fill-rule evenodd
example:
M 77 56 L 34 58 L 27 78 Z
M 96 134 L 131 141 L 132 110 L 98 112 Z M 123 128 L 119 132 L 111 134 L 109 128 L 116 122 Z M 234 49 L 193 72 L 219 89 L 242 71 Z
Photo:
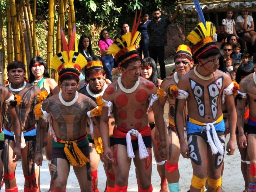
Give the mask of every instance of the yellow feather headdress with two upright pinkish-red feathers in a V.
M 74 35 L 76 33 L 76 25 L 71 36 L 69 48 L 67 46 L 63 30 L 60 29 L 60 31 L 64 51 L 54 55 L 51 61 L 51 67 L 58 71 L 59 78 L 67 73 L 72 73 L 79 78 L 81 69 L 84 68 L 84 66 L 87 64 L 87 61 L 81 53 L 72 51 L 74 46 Z

